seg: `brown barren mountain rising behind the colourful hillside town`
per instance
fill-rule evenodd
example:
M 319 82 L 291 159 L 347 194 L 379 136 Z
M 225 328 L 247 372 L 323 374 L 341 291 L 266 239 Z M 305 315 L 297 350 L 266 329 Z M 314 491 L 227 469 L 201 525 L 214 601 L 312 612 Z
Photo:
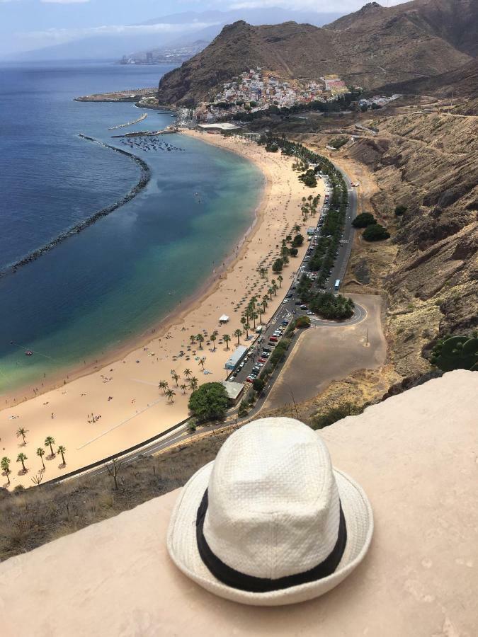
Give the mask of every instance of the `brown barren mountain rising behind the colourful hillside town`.
M 337 73 L 349 84 L 370 89 L 445 73 L 471 60 L 476 6 L 475 0 L 414 0 L 391 8 L 370 3 L 324 28 L 237 21 L 161 79 L 159 101 L 198 103 L 224 81 L 256 66 L 288 79 Z

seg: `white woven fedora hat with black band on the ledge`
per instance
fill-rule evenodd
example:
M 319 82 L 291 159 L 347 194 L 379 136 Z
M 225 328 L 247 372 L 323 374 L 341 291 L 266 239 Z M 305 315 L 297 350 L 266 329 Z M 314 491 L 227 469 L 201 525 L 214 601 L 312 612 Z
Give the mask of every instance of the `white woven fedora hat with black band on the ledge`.
M 367 496 L 333 469 L 319 435 L 292 418 L 263 418 L 190 478 L 167 542 L 176 566 L 210 592 L 278 606 L 341 583 L 372 531 Z

